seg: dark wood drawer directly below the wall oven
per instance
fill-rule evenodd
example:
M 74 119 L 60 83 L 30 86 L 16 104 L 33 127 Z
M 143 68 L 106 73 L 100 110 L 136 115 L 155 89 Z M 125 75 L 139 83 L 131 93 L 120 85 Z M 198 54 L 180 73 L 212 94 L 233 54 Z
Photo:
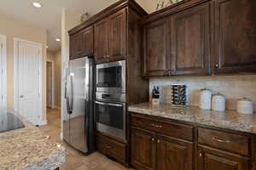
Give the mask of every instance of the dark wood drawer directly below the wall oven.
M 102 136 L 100 134 L 96 135 L 96 149 L 102 154 L 107 156 L 112 156 L 118 161 L 125 162 L 125 144 L 118 141 L 110 139 L 108 137 Z

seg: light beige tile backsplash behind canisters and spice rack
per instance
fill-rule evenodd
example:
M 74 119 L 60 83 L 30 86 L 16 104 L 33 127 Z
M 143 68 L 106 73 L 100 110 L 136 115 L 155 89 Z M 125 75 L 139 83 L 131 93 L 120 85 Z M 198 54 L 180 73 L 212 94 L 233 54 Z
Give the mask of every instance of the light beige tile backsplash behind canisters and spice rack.
M 188 105 L 199 105 L 200 90 L 211 89 L 213 94 L 224 94 L 226 109 L 236 110 L 236 100 L 252 99 L 256 104 L 256 75 L 212 77 L 154 77 L 149 80 L 149 93 L 154 86 L 160 87 L 160 102 L 171 103 L 172 83 L 183 82 L 188 88 Z

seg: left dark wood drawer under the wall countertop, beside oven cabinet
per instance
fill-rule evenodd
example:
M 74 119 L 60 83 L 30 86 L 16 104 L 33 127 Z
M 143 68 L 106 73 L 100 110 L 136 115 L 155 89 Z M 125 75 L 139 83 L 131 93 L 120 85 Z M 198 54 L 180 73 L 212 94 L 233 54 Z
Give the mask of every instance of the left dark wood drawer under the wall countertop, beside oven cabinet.
M 194 137 L 194 127 L 175 122 L 161 122 L 140 116 L 131 116 L 131 126 L 141 127 L 143 129 L 162 133 L 178 139 L 192 141 Z

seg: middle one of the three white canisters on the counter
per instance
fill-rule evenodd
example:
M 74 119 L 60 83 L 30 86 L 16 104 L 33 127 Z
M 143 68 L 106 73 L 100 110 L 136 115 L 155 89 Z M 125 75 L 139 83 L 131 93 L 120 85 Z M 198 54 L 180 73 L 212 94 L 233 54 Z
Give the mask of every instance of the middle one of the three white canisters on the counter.
M 212 96 L 212 110 L 213 111 L 225 111 L 226 110 L 226 101 L 224 95 L 214 94 Z

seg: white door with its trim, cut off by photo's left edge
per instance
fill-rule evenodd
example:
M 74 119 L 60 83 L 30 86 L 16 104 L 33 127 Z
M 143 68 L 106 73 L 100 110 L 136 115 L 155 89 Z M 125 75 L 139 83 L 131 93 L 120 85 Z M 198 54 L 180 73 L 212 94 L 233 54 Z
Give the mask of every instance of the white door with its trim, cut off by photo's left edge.
M 0 108 L 7 107 L 6 85 L 6 37 L 0 35 Z

